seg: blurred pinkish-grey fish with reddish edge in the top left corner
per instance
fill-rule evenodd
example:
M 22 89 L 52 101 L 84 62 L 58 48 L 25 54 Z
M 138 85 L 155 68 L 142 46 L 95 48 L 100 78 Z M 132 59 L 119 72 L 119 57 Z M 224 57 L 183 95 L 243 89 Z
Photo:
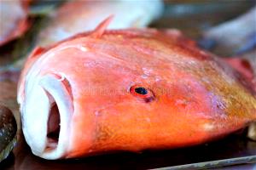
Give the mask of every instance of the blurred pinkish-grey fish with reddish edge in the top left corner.
M 0 46 L 22 36 L 29 28 L 30 0 L 0 1 Z

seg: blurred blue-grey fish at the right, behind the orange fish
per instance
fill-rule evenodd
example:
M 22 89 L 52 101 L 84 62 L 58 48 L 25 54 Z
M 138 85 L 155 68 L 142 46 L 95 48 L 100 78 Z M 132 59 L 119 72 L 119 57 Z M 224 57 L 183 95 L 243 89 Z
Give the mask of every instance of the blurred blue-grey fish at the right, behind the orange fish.
M 214 26 L 202 33 L 205 48 L 224 56 L 244 54 L 256 48 L 256 7 L 236 19 Z M 202 47 L 207 43 L 201 43 Z

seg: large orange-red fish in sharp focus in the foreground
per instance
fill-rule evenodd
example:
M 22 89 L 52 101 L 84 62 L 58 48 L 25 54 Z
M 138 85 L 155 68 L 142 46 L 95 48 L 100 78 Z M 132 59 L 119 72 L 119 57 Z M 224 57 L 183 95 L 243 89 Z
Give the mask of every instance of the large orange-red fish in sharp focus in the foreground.
M 222 138 L 256 121 L 253 84 L 179 31 L 101 30 L 97 35 L 99 30 L 39 48 L 26 61 L 18 101 L 35 155 L 58 159 L 173 149 Z M 59 105 L 51 94 L 56 89 L 44 90 L 60 106 L 61 130 L 56 146 L 47 139 L 42 149 L 32 137 L 38 134 L 28 112 L 38 111 L 31 106 L 40 105 L 31 103 L 33 88 L 44 88 L 44 77 L 62 83 L 67 94 L 62 100 L 71 109 L 68 118 L 62 116 L 62 100 Z M 148 93 L 137 94 L 138 88 Z M 63 136 L 65 150 L 55 156 Z

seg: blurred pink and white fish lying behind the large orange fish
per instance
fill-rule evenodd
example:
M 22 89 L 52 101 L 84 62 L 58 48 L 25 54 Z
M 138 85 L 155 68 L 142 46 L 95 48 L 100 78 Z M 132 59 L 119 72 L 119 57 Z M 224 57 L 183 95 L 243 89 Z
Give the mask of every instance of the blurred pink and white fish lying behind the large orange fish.
M 83 31 L 94 29 L 110 15 L 110 29 L 146 27 L 163 13 L 164 3 L 150 1 L 68 1 L 49 14 L 49 22 L 38 36 L 37 45 L 47 46 Z

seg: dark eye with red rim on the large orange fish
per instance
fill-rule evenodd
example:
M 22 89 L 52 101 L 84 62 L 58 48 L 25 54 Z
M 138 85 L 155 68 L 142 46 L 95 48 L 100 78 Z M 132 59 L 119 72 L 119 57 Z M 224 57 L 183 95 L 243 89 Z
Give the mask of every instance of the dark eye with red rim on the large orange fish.
M 143 99 L 144 102 L 148 103 L 154 100 L 154 94 L 149 88 L 143 86 L 132 86 L 130 93 L 137 99 Z

